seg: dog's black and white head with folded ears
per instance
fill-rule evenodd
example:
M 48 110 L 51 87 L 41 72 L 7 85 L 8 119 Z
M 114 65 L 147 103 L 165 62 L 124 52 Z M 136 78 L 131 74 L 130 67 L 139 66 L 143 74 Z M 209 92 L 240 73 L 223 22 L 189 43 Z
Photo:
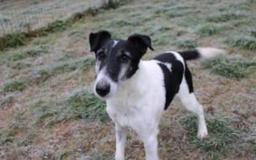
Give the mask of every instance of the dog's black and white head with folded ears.
M 116 88 L 138 70 L 140 59 L 151 46 L 149 36 L 134 34 L 127 40 L 111 38 L 108 31 L 91 33 L 89 37 L 91 52 L 95 52 L 97 79 L 95 95 L 108 99 Z

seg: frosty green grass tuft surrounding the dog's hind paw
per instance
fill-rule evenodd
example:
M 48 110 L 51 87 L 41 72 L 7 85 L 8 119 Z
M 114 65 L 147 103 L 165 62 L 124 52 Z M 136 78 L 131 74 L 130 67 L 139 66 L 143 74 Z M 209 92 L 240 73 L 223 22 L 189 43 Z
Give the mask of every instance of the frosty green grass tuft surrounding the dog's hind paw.
M 182 118 L 189 147 L 199 148 L 208 159 L 228 157 L 228 150 L 239 140 L 241 134 L 229 125 L 230 119 L 228 118 L 206 115 L 205 120 L 209 136 L 200 139 L 196 138 L 198 118 L 195 115 Z

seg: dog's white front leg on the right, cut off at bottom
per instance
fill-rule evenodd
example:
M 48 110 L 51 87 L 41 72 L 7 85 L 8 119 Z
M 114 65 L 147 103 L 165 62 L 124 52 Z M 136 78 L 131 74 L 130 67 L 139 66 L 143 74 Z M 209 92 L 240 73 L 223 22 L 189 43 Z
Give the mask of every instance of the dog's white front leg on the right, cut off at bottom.
M 147 160 L 158 160 L 157 134 L 143 138 Z

